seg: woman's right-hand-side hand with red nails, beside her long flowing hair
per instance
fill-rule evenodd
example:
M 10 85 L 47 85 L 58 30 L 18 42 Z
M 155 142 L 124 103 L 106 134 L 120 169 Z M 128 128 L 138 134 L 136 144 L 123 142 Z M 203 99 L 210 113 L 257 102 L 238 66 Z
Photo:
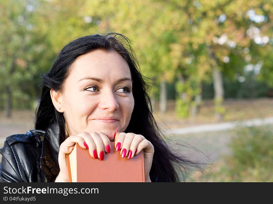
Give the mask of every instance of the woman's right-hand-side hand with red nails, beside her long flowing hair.
M 154 146 L 152 143 L 140 134 L 120 132 L 116 133 L 114 142 L 116 151 L 120 150 L 121 157 L 127 156 L 128 159 L 131 159 L 143 149 L 145 182 L 151 182 L 149 173 L 154 156 Z

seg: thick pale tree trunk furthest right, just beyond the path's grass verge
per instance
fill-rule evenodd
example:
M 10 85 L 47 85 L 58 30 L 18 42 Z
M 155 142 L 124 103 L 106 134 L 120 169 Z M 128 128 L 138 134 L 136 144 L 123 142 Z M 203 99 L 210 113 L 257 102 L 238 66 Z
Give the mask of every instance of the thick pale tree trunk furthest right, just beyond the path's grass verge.
M 224 87 L 222 73 L 218 68 L 213 68 L 213 88 L 214 88 L 214 99 L 216 103 L 216 108 L 222 106 L 222 101 L 224 98 Z M 223 119 L 223 114 L 220 111 L 216 111 L 216 120 L 221 121 Z

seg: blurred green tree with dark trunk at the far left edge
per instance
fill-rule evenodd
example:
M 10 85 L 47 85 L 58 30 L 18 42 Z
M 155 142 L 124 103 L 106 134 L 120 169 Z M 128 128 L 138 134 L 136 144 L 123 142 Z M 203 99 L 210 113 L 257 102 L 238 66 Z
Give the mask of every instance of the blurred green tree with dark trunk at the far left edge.
M 11 117 L 12 97 L 20 102 L 28 101 L 30 97 L 24 92 L 28 89 L 26 82 L 30 82 L 36 73 L 30 66 L 32 54 L 38 49 L 33 46 L 35 33 L 31 21 L 34 5 L 14 0 L 1 1 L 0 5 L 3 32 L 0 39 L 0 86 L 4 90 L 2 97 L 6 98 L 7 117 Z

